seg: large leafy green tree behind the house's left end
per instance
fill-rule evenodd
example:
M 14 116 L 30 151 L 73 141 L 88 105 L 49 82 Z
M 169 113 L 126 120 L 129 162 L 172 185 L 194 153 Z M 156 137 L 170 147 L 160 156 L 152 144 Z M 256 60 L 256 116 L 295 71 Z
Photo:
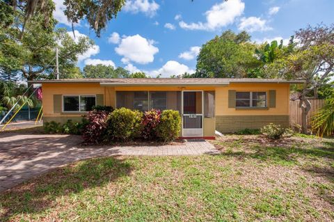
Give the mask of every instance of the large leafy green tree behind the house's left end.
M 80 77 L 76 68 L 79 54 L 83 54 L 92 45 L 88 37 L 79 37 L 74 41 L 65 29 L 54 29 L 56 20 L 49 18 L 45 27 L 42 15 L 34 15 L 26 22 L 26 31 L 20 38 L 19 27 L 24 19 L 17 19 L 14 24 L 0 30 L 0 69 L 18 71 L 24 79 L 54 77 L 56 65 L 55 48 L 59 49 L 59 70 L 61 77 Z

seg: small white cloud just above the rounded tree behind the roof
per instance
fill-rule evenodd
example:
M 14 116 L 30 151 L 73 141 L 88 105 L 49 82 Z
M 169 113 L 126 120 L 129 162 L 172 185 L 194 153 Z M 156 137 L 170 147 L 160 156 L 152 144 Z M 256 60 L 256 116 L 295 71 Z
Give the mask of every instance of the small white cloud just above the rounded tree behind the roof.
M 268 31 L 272 28 L 267 25 L 267 20 L 261 19 L 260 17 L 243 17 L 238 25 L 238 29 L 253 32 Z

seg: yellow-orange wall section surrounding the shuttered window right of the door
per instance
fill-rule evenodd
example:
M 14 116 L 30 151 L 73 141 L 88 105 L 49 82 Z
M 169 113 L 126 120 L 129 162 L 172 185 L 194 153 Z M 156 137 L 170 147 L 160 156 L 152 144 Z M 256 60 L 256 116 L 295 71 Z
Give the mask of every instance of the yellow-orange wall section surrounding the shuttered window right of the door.
M 266 91 L 276 90 L 276 108 L 235 109 L 228 108 L 228 90 Z M 216 116 L 254 116 L 254 115 L 289 115 L 289 84 L 230 84 L 228 87 L 216 87 Z

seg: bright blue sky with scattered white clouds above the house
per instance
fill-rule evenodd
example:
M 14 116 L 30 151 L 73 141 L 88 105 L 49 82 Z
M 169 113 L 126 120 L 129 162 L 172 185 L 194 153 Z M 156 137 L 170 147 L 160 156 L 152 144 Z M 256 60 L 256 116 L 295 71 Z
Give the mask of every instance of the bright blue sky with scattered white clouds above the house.
M 63 0 L 55 3 L 58 26 L 72 33 Z M 333 0 L 128 0 L 100 38 L 85 21 L 74 26 L 76 36 L 95 40 L 78 65 L 103 63 L 152 77 L 193 72 L 200 46 L 225 30 L 246 30 L 256 42 L 287 42 L 308 24 L 331 24 L 333 8 Z

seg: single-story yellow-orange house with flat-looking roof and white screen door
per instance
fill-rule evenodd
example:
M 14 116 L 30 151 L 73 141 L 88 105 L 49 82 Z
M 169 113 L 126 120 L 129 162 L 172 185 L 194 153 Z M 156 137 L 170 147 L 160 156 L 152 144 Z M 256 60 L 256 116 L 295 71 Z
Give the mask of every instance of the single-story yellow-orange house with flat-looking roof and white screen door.
M 219 132 L 289 126 L 290 84 L 279 79 L 58 79 L 42 84 L 43 120 L 81 120 L 95 105 L 182 115 L 182 137 L 214 138 Z

